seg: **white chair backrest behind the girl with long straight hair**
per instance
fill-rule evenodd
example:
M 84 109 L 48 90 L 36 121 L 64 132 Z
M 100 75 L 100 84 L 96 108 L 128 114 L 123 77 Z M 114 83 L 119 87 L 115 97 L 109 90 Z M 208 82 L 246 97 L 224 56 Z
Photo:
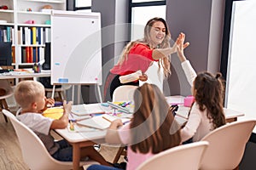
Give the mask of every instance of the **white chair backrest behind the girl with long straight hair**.
M 208 142 L 200 141 L 173 147 L 144 161 L 137 170 L 197 170 L 207 146 Z

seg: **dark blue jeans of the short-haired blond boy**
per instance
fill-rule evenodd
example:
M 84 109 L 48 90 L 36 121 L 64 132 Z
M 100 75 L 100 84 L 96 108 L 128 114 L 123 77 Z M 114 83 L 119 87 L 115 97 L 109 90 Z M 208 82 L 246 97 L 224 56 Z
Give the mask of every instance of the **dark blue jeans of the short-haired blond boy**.
M 58 161 L 73 161 L 73 147 L 68 144 L 66 140 L 60 140 L 57 142 L 60 144 L 60 149 L 52 155 Z

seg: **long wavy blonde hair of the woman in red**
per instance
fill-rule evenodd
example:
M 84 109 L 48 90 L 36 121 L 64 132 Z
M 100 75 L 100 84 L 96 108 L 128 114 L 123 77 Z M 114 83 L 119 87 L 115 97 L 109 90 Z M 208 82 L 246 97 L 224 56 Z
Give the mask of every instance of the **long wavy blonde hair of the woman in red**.
M 148 20 L 147 25 L 144 27 L 144 37 L 143 39 L 137 39 L 136 41 L 131 41 L 129 42 L 125 48 L 123 49 L 123 52 L 121 54 L 121 57 L 119 59 L 118 64 L 122 64 L 127 58 L 128 58 L 128 54 L 130 53 L 131 48 L 136 44 L 136 43 L 143 43 L 148 45 L 149 48 L 151 47 L 151 38 L 150 38 L 150 31 L 152 29 L 152 26 L 154 25 L 155 22 L 162 22 L 165 27 L 166 27 L 166 36 L 163 40 L 163 42 L 161 42 L 157 48 L 169 48 L 170 47 L 170 39 L 171 39 L 171 33 L 168 29 L 166 20 L 159 18 L 159 17 L 155 17 L 151 20 Z M 159 70 L 158 72 L 160 73 L 160 67 L 163 68 L 164 70 L 164 75 L 165 78 L 168 77 L 171 74 L 171 58 L 170 57 L 163 57 L 162 59 L 159 59 L 158 61 L 158 65 L 159 65 Z

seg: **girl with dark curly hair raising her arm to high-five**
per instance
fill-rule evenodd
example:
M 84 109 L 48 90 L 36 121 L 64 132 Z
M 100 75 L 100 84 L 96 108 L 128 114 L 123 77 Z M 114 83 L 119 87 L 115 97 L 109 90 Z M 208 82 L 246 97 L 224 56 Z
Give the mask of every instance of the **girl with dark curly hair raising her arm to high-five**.
M 177 40 L 177 55 L 182 65 L 187 61 L 183 54 L 184 38 L 185 35 L 181 33 Z M 220 80 L 221 74 L 218 73 L 216 77 L 213 77 L 208 72 L 202 72 L 196 76 L 191 65 L 189 68 L 183 70 L 192 85 L 191 91 L 195 97 L 195 103 L 189 111 L 188 122 L 181 129 L 181 138 L 185 143 L 191 142 L 187 140 L 192 137 L 192 141 L 199 141 L 213 129 L 225 124 L 224 86 Z

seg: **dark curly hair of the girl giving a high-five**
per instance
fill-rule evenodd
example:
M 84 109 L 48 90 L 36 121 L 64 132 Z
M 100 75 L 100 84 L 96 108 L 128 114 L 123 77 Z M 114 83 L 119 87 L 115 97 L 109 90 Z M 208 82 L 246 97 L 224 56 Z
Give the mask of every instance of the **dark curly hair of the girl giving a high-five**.
M 207 117 L 212 120 L 213 127 L 224 125 L 224 81 L 221 73 L 214 77 L 209 72 L 201 72 L 195 77 L 194 82 L 195 101 L 199 109 L 207 109 Z

